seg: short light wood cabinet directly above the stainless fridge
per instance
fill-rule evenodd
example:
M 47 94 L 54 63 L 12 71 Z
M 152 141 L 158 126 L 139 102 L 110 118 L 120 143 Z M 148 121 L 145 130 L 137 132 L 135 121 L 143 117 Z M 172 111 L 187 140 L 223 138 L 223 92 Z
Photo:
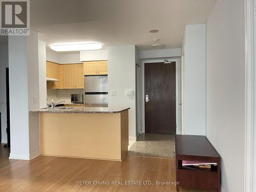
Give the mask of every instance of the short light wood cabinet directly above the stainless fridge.
M 84 75 L 106 75 L 108 74 L 108 61 L 86 61 L 83 62 Z

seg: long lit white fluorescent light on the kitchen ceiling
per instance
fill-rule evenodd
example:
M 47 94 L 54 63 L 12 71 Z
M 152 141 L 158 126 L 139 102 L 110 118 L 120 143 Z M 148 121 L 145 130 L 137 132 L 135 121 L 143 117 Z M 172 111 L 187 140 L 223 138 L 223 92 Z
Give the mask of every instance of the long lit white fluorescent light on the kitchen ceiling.
M 98 42 L 90 43 L 73 43 L 66 45 L 52 45 L 50 48 L 54 51 L 86 51 L 101 49 L 102 46 Z

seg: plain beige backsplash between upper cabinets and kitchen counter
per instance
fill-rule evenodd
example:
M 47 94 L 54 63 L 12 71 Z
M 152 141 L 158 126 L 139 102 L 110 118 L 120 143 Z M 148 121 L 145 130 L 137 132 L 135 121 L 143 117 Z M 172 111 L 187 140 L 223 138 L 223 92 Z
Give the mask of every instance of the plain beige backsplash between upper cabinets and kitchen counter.
M 65 101 L 65 103 L 71 103 L 71 94 L 83 94 L 83 89 L 47 89 L 47 103 L 54 103 L 59 101 Z

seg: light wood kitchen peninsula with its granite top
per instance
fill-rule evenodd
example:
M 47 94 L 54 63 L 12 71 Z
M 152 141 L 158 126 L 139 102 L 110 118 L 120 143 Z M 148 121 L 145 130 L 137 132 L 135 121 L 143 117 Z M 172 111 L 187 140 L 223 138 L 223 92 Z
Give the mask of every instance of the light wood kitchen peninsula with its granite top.
M 130 108 L 32 110 L 40 118 L 40 153 L 121 161 L 128 150 Z

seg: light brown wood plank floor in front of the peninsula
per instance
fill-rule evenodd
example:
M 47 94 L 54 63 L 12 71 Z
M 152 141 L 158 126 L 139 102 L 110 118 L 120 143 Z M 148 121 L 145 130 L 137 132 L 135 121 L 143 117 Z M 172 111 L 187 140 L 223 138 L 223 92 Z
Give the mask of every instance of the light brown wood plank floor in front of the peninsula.
M 19 160 L 0 169 L 1 191 L 176 191 L 175 159 L 126 156 L 122 162 L 40 156 Z M 77 182 L 79 182 L 77 184 Z M 86 184 L 91 181 L 91 184 Z M 93 182 L 122 182 L 95 184 Z M 151 185 L 125 185 L 125 181 L 151 181 Z M 154 185 L 153 185 L 154 184 Z M 199 191 L 186 190 L 182 191 Z

